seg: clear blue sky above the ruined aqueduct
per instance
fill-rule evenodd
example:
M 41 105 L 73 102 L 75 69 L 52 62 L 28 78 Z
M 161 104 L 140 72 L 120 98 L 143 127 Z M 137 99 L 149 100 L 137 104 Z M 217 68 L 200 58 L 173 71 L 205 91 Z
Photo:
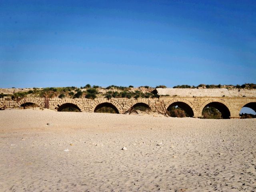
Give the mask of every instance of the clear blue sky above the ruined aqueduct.
M 0 87 L 256 83 L 255 0 L 0 0 Z

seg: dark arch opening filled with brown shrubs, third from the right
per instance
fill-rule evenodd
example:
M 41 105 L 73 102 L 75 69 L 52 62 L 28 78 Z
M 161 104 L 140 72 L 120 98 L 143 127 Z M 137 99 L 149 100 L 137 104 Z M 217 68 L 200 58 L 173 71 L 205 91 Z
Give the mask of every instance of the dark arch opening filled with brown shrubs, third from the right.
M 167 108 L 167 114 L 170 117 L 192 117 L 194 112 L 192 108 L 184 102 L 174 102 Z

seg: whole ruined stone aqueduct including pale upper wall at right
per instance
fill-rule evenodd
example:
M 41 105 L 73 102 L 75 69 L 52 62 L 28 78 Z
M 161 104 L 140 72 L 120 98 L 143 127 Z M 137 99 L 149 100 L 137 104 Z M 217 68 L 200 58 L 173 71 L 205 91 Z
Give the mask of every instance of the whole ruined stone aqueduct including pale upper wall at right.
M 81 112 L 95 112 L 102 106 L 113 108 L 116 113 L 124 114 L 132 107 L 145 106 L 153 112 L 165 113 L 169 107 L 179 106 L 191 117 L 201 117 L 204 107 L 217 108 L 223 118 L 240 118 L 241 108 L 249 107 L 256 111 L 256 90 L 223 90 L 223 89 L 157 89 L 159 95 L 170 96 L 159 98 L 22 98 L 11 100 L 0 98 L 0 108 L 21 107 L 26 103 L 33 103 L 40 107 L 61 111 L 66 107 L 74 107 Z M 175 94 L 174 94 L 175 93 Z M 225 95 L 224 95 L 224 94 Z M 210 96 L 210 95 L 214 96 Z

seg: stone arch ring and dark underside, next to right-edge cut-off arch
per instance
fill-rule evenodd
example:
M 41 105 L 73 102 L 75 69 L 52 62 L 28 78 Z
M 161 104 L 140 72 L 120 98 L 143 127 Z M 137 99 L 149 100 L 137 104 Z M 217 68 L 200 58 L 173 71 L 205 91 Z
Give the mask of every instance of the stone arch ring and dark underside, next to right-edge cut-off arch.
M 199 113 L 201 115 L 202 115 L 203 109 L 205 107 L 214 107 L 214 108 L 218 109 L 220 111 L 220 113 L 222 114 L 222 118 L 224 118 L 224 119 L 229 119 L 231 116 L 231 113 L 230 113 L 231 107 L 227 102 L 225 102 L 223 100 L 210 99 L 210 100 L 207 100 L 206 102 L 204 102 L 199 110 Z

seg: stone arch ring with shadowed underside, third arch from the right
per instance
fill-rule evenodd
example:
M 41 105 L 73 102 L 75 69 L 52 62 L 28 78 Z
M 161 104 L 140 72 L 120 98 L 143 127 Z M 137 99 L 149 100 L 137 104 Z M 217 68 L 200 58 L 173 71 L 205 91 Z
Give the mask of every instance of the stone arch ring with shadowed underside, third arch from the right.
M 196 108 L 194 107 L 194 105 L 191 102 L 189 102 L 186 99 L 175 98 L 171 101 L 164 101 L 164 104 L 166 106 L 166 110 L 168 110 L 168 108 L 170 108 L 172 106 L 178 105 L 183 110 L 185 110 L 190 117 L 193 117 L 196 114 Z

